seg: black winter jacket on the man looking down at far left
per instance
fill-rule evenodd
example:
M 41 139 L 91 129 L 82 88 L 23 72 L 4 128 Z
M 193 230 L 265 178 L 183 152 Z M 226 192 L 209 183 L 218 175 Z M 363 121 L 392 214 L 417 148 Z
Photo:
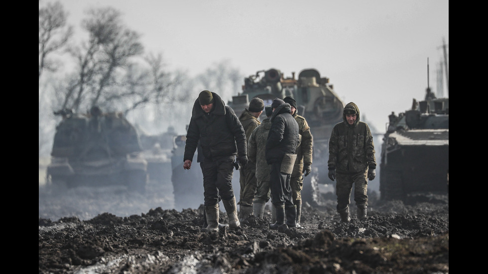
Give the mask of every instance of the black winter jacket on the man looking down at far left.
M 183 162 L 193 161 L 199 141 L 205 159 L 215 160 L 238 152 L 239 156 L 247 155 L 244 128 L 236 113 L 217 93 L 212 92 L 212 96 L 214 109 L 210 113 L 202 109 L 198 99 L 193 104 Z

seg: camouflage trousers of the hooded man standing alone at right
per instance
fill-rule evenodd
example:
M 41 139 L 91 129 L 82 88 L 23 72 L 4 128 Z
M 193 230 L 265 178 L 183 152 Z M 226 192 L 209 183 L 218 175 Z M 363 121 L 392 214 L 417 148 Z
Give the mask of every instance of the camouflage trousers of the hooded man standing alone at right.
M 349 207 L 351 191 L 354 184 L 354 200 L 356 205 L 367 205 L 367 171 L 355 174 L 336 174 L 337 211 Z

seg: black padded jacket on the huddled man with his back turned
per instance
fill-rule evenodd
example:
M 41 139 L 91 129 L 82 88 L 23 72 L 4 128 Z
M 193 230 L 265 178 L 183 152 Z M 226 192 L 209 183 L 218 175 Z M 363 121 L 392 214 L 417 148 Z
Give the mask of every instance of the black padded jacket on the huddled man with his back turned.
M 266 140 L 266 163 L 281 162 L 285 154 L 295 154 L 299 144 L 298 123 L 291 116 L 289 103 L 280 104 L 271 115 L 271 128 Z

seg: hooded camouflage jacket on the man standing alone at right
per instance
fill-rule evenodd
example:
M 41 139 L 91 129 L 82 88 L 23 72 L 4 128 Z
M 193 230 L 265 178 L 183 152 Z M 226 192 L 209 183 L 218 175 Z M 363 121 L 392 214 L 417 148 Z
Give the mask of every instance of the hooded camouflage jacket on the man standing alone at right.
M 366 168 L 375 169 L 374 144 L 369 126 L 360 122 L 358 106 L 350 102 L 344 108 L 354 107 L 357 118 L 354 124 L 349 125 L 346 114 L 343 122 L 334 126 L 329 140 L 329 170 L 335 169 L 337 173 L 352 174 L 366 171 Z

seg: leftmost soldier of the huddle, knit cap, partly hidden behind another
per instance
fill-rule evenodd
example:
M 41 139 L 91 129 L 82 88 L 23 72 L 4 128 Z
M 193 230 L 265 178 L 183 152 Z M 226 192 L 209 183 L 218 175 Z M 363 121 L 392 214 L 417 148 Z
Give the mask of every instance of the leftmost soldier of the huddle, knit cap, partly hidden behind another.
M 252 131 L 261 124 L 259 116 L 264 109 L 264 102 L 262 99 L 254 97 L 249 102 L 249 108 L 244 108 L 243 113 L 239 117 L 239 121 L 243 125 L 245 131 L 245 139 L 249 140 Z M 245 165 L 239 170 L 241 184 L 241 193 L 239 199 L 239 214 L 240 221 L 243 223 L 249 215 L 252 214 L 252 199 L 256 193 L 256 166 Z

